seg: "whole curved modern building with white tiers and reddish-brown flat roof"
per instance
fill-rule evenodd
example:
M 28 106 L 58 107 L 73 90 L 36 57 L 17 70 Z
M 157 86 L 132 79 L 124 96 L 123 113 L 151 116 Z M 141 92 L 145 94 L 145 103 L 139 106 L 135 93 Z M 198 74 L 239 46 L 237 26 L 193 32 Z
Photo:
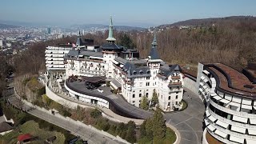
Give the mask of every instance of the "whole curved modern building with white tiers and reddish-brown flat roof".
M 198 64 L 198 94 L 206 102 L 202 143 L 256 143 L 256 85 L 220 64 Z

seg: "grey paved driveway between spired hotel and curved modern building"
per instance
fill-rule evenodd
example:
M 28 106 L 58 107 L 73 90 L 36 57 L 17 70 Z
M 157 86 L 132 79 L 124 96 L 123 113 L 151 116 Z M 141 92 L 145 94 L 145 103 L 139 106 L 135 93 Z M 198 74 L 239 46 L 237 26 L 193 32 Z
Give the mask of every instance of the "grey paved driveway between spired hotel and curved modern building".
M 181 144 L 202 143 L 202 122 L 205 106 L 202 100 L 190 90 L 186 90 L 183 99 L 188 102 L 186 110 L 165 114 L 166 122 L 178 129 L 181 134 Z

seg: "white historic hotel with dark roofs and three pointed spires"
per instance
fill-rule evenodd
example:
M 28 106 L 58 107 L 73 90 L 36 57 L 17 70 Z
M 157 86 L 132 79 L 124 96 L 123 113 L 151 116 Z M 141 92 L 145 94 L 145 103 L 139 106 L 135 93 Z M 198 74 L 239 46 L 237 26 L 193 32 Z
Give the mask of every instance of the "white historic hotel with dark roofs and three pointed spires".
M 105 76 L 106 80 L 110 81 L 110 87 L 118 90 L 119 94 L 134 106 L 140 105 L 144 95 L 151 100 L 153 90 L 156 90 L 162 110 L 171 111 L 182 108 L 181 68 L 178 65 L 167 65 L 159 58 L 155 33 L 150 55 L 146 59 L 140 59 L 138 51 L 126 49 L 115 43 L 112 18 L 109 37 L 106 41 L 98 47 L 84 45 L 78 37 L 76 47 L 68 53 L 65 52 L 62 62 L 65 63 L 63 67 L 66 70 L 66 79 L 71 75 Z

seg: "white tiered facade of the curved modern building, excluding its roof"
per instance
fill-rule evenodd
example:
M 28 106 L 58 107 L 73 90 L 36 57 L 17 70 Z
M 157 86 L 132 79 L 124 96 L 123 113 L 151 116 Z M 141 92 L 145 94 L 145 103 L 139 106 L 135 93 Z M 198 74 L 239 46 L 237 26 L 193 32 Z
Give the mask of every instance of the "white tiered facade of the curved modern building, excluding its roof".
M 216 79 L 210 71 L 198 68 L 198 93 L 206 98 L 204 122 L 207 132 L 224 143 L 256 142 L 256 102 L 243 94 L 216 89 Z M 206 133 L 203 135 L 206 139 Z

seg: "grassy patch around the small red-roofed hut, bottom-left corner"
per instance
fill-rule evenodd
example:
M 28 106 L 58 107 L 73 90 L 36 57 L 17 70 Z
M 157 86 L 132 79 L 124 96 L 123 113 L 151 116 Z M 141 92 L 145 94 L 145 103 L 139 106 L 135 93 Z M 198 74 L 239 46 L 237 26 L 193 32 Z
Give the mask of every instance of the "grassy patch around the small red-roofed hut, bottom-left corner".
M 44 129 L 40 129 L 37 122 L 32 120 L 25 122 L 21 126 L 18 126 L 15 130 L 10 132 L 9 134 L 5 134 L 4 136 L 0 137 L 0 139 L 4 142 L 8 143 L 16 143 L 17 137 L 20 134 L 31 134 L 35 138 L 35 140 L 31 143 L 44 143 L 47 138 L 52 136 L 56 136 L 57 139 L 54 143 L 64 143 L 65 136 L 64 134 L 57 132 L 57 131 L 48 131 Z M 1 143 L 1 142 L 0 142 Z

